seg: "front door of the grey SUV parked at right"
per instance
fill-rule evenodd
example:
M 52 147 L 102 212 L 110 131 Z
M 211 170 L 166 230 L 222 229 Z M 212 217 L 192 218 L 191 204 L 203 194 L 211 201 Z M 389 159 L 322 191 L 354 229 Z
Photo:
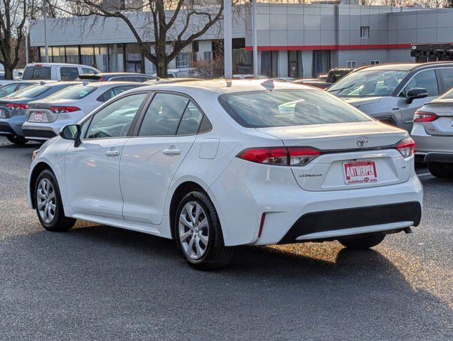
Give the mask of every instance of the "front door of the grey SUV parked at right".
M 415 87 L 426 89 L 428 96 L 425 98 L 414 99 L 412 103 L 407 104 L 405 98 L 407 92 Z M 412 129 L 414 113 L 420 109 L 423 104 L 432 101 L 439 96 L 439 82 L 436 77 L 435 69 L 422 70 L 417 72 L 405 85 L 398 96 L 398 107 L 400 108 L 401 127 L 407 131 Z

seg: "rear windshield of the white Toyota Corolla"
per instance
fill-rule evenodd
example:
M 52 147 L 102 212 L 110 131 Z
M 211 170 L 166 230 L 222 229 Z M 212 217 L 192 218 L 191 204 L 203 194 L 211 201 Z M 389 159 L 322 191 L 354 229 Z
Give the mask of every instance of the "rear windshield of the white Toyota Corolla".
M 218 100 L 238 124 L 250 128 L 372 121 L 321 90 L 274 90 L 221 94 Z

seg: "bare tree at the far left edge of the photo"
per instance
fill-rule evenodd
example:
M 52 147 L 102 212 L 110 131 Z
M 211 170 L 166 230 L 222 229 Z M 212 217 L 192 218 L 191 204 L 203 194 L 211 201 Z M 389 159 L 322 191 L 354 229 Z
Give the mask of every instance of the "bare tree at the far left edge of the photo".
M 7 80 L 13 78 L 19 61 L 23 26 L 33 6 L 33 0 L 2 0 L 0 3 L 0 64 L 4 66 Z

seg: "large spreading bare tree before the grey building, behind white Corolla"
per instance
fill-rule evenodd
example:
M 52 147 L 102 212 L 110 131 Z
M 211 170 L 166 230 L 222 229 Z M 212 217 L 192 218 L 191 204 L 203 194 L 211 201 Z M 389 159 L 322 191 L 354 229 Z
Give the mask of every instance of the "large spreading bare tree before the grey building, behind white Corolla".
M 220 2 L 220 4 L 219 4 Z M 53 7 L 70 16 L 99 20 L 118 18 L 126 23 L 145 58 L 167 77 L 167 67 L 178 53 L 203 36 L 223 17 L 223 1 L 212 0 L 66 0 Z M 137 23 L 131 12 L 140 12 Z M 91 21 L 93 23 L 94 21 Z M 150 43 L 151 42 L 151 43 Z

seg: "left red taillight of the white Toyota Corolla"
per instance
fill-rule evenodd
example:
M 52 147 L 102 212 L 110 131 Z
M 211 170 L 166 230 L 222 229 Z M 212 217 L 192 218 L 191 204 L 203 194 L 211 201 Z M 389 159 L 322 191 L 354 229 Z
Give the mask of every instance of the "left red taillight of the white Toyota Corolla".
M 314 148 L 307 147 L 264 147 L 248 148 L 238 154 L 243 160 L 279 166 L 304 166 L 321 155 Z

